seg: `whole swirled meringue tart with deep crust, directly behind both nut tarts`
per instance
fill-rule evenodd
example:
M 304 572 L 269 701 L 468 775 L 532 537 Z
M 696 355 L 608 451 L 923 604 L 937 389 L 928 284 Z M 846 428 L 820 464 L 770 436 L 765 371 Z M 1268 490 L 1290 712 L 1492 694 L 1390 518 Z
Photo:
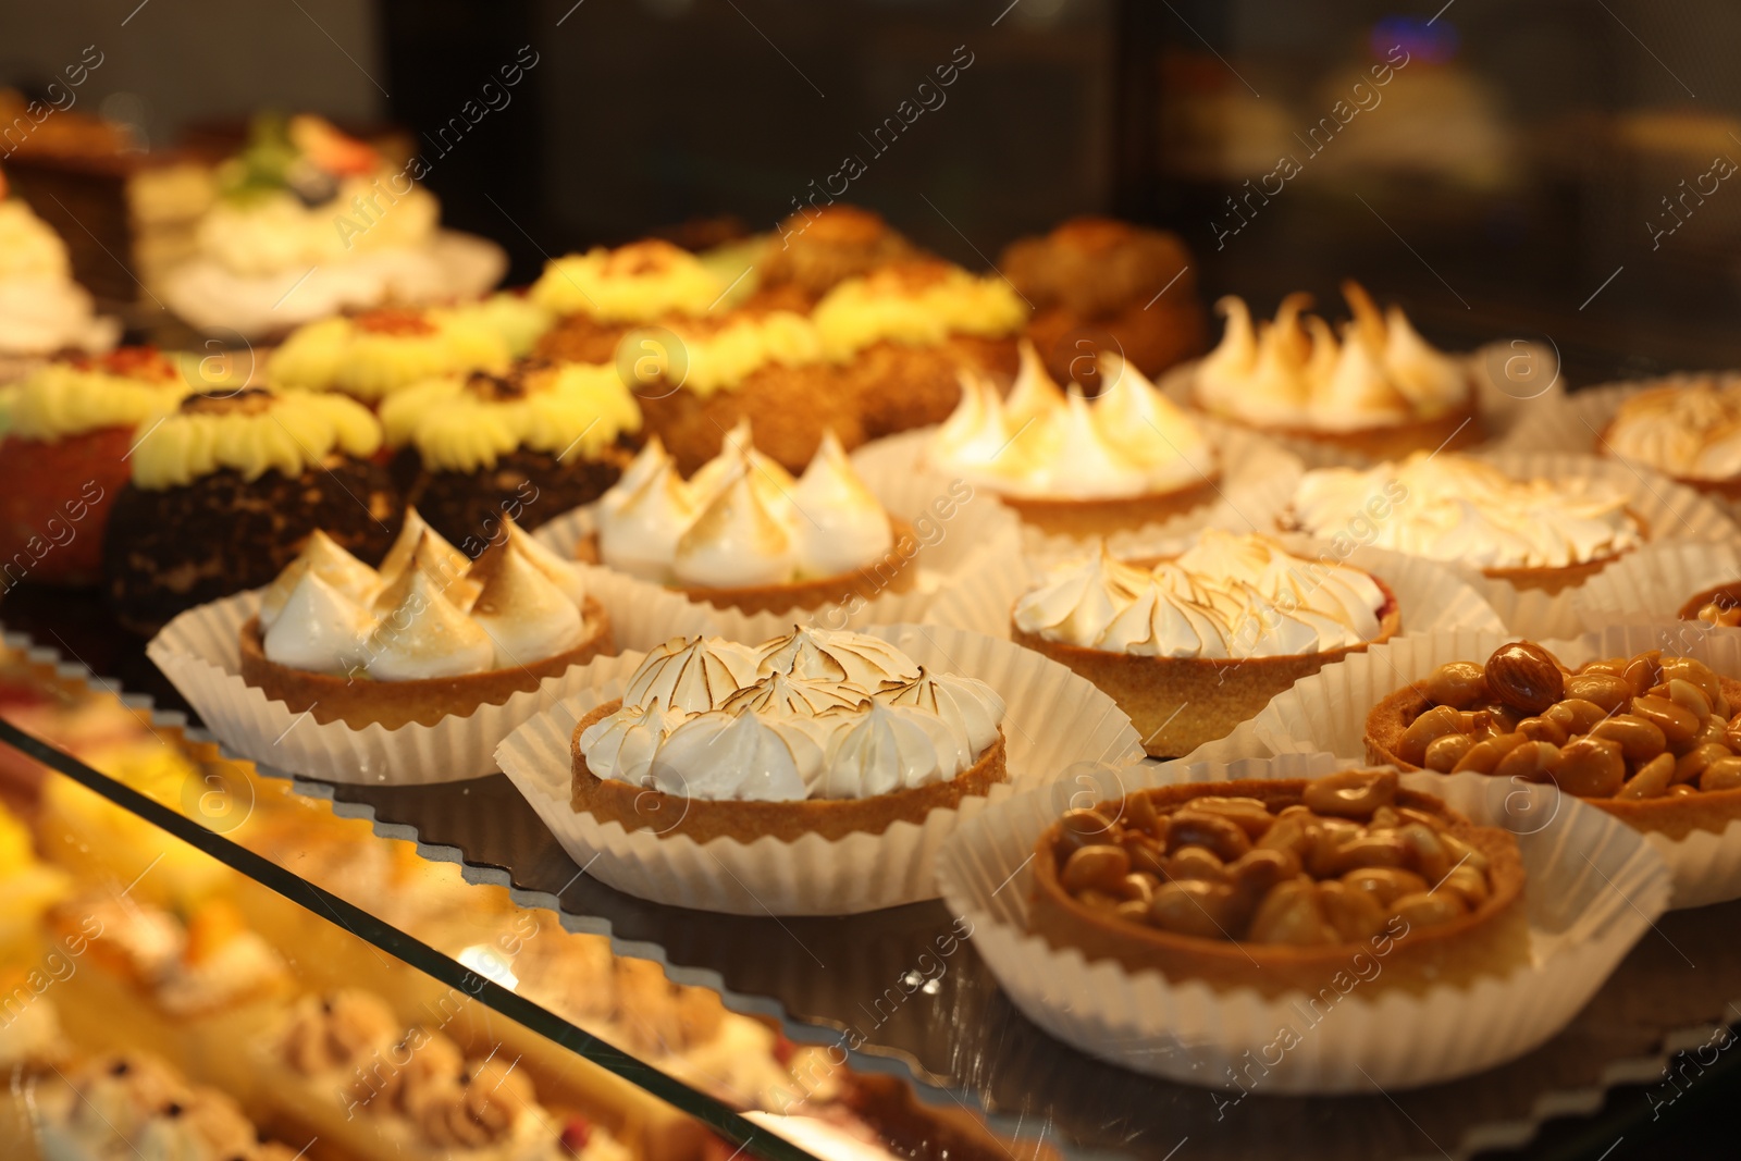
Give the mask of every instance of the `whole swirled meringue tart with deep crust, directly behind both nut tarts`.
M 1396 595 L 1370 573 L 1215 529 L 1153 564 L 1102 547 L 1012 613 L 1015 642 L 1099 686 L 1153 757 L 1227 736 L 1301 677 L 1398 632 Z

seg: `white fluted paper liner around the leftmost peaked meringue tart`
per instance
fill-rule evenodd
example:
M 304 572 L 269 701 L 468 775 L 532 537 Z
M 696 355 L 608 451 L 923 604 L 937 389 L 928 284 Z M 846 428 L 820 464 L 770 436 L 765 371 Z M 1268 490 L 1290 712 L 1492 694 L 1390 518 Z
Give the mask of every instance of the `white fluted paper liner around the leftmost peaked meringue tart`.
M 609 614 L 618 649 L 651 649 L 677 634 L 717 632 L 709 609 L 674 594 L 648 597 L 609 573 L 588 574 L 587 594 Z M 165 625 L 145 651 L 230 750 L 306 778 L 427 785 L 489 775 L 496 771 L 496 745 L 515 726 L 585 688 L 585 667 L 576 665 L 501 705 L 481 705 L 434 726 L 322 724 L 242 681 L 240 630 L 258 611 L 258 592 L 202 604 Z

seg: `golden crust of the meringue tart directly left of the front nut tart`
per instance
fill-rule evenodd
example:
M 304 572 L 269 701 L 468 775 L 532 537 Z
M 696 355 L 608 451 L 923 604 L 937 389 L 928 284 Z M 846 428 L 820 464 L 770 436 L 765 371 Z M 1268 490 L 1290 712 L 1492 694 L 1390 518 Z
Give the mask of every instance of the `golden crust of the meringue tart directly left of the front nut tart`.
M 897 822 L 923 823 L 933 809 L 956 809 L 961 799 L 985 795 L 1008 778 L 1003 728 L 973 766 L 949 782 L 877 794 L 869 799 L 803 799 L 797 802 L 740 802 L 686 799 L 629 782 L 599 778 L 580 750 L 580 735 L 609 717 L 622 698 L 595 707 L 575 726 L 569 752 L 575 778 L 569 806 L 576 815 L 592 815 L 601 823 L 622 823 L 623 830 L 653 830 L 660 836 L 684 834 L 696 842 L 735 839 L 750 844 L 764 836 L 796 842 L 806 834 L 844 839 L 851 834 L 883 834 Z M 676 822 L 672 822 L 676 820 Z

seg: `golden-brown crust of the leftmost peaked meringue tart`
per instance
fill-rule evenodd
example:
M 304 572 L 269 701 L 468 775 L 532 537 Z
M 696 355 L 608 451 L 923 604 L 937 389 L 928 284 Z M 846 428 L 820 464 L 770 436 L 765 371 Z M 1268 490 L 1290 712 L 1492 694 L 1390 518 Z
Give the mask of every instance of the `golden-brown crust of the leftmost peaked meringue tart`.
M 444 717 L 465 717 L 481 705 L 501 705 L 515 693 L 536 689 L 545 677 L 568 672 L 571 665 L 585 665 L 595 656 L 615 653 L 611 618 L 604 606 L 587 597 L 581 618 L 588 632 L 578 644 L 533 665 L 420 681 L 352 681 L 268 660 L 259 618 L 252 616 L 242 625 L 242 681 L 261 689 L 270 700 L 284 701 L 292 714 L 310 714 L 322 726 L 327 722 L 345 722 L 352 729 L 362 729 L 371 722 L 387 729 L 411 722 L 434 726 Z

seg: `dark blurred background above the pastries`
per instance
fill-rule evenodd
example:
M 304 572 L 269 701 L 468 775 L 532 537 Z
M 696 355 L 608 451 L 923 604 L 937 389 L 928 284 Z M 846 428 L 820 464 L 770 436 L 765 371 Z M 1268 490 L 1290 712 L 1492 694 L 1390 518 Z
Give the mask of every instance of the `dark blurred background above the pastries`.
M 0 9 L 0 85 L 92 44 L 80 108 L 151 148 L 268 104 L 402 125 L 519 282 L 688 219 L 766 230 L 857 157 L 843 200 L 971 266 L 1109 211 L 1259 310 L 1354 275 L 1447 345 L 1548 336 L 1577 383 L 1741 362 L 1731 0 L 70 0 Z

